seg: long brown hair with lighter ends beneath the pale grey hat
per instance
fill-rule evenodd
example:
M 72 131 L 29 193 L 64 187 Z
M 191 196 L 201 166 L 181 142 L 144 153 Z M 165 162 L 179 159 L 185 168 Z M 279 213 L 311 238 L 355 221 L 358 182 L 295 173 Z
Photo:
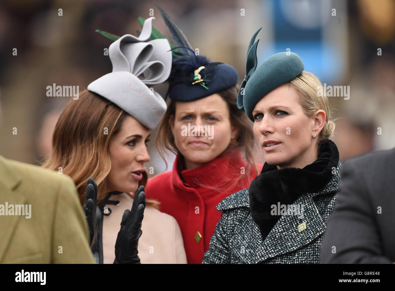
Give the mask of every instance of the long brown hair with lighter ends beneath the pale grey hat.
M 98 202 L 107 193 L 106 180 L 111 170 L 110 143 L 128 116 L 121 108 L 100 95 L 84 90 L 79 99 L 71 99 L 55 126 L 52 152 L 42 165 L 69 175 L 85 202 L 87 180 L 92 177 L 98 185 Z M 139 185 L 147 183 L 147 173 Z M 149 200 L 147 205 L 154 206 Z

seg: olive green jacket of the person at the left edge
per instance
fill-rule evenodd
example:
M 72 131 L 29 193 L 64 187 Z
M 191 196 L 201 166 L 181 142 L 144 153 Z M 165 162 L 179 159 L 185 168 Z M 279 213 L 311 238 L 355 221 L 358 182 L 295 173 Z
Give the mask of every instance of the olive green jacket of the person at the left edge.
M 95 263 L 71 178 L 2 156 L 0 234 L 0 263 Z

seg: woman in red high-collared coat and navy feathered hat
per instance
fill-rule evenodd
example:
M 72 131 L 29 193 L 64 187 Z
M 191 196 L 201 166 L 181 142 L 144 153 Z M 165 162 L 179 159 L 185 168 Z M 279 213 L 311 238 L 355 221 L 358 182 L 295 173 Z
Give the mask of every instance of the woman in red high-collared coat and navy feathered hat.
M 201 263 L 221 218 L 216 205 L 248 188 L 263 165 L 252 158 L 252 124 L 237 108 L 236 70 L 183 51 L 173 61 L 171 101 L 156 137 L 162 157 L 166 150 L 177 157 L 172 171 L 149 179 L 145 193 L 179 223 L 188 263 Z

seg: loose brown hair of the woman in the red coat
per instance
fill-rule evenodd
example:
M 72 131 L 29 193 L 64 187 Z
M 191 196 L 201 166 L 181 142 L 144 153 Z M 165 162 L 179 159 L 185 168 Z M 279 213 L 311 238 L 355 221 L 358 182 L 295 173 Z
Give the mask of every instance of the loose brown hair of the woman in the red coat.
M 252 131 L 252 124 L 251 121 L 248 119 L 246 114 L 239 110 L 237 107 L 237 93 L 238 88 L 236 86 L 230 87 L 223 91 L 218 92 L 218 95 L 222 97 L 222 99 L 226 102 L 229 109 L 229 120 L 231 125 L 239 129 L 239 132 L 236 137 L 235 144 L 229 144 L 224 153 L 229 152 L 231 150 L 235 150 L 239 148 L 242 152 L 244 159 L 247 163 L 247 167 L 245 172 L 247 174 L 247 178 L 250 180 L 250 172 L 253 167 L 256 174 L 259 174 L 258 166 L 255 163 L 254 156 L 252 154 L 253 146 L 255 143 L 255 135 Z M 166 151 L 170 150 L 174 154 L 181 154 L 175 145 L 174 136 L 171 131 L 171 126 L 169 124 L 169 119 L 171 116 L 175 115 L 175 107 L 176 101 L 170 100 L 169 104 L 167 105 L 167 110 L 160 122 L 158 132 L 156 134 L 155 139 L 155 147 L 162 159 L 165 161 L 166 166 Z M 231 179 L 231 185 L 235 185 L 239 182 L 240 179 L 243 178 L 243 175 L 240 175 L 238 179 Z M 226 179 L 224 179 L 226 180 Z M 224 181 L 224 184 L 229 185 L 230 181 Z M 212 187 L 211 187 L 212 188 Z

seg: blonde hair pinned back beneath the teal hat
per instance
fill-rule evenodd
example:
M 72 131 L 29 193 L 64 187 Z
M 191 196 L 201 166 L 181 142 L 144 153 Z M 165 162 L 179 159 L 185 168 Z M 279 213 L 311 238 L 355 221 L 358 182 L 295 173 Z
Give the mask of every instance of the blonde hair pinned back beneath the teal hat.
M 288 82 L 299 93 L 299 103 L 303 112 L 308 117 L 312 117 L 317 110 L 324 110 L 326 113 L 325 125 L 318 135 L 318 145 L 324 139 L 333 139 L 335 131 L 335 120 L 332 119 L 332 108 L 329 105 L 328 97 L 318 96 L 318 91 L 324 91 L 320 80 L 310 72 L 302 72 L 299 76 Z

